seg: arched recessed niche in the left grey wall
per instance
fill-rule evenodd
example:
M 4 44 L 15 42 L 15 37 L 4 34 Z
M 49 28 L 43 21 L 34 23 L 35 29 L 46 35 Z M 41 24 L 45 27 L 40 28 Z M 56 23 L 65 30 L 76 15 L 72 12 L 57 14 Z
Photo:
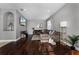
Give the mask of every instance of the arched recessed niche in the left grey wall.
M 14 31 L 14 14 L 12 12 L 4 13 L 3 20 L 4 31 Z

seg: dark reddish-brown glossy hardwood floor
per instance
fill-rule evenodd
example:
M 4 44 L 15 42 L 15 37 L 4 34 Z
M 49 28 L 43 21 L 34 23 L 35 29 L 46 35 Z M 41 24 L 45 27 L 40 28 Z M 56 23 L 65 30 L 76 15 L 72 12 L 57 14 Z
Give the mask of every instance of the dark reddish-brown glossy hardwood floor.
M 41 43 L 39 40 L 19 39 L 0 48 L 0 55 L 68 55 L 70 48 Z

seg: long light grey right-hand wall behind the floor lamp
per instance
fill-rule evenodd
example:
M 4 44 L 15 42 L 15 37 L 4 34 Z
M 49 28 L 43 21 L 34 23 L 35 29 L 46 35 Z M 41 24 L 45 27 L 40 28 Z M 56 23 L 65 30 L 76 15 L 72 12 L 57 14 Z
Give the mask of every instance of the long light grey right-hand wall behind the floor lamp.
M 68 35 L 77 34 L 77 32 L 79 31 L 79 25 L 77 19 L 79 19 L 79 17 L 76 18 L 76 12 L 77 12 L 77 7 L 75 4 L 67 4 L 64 7 L 62 7 L 58 12 L 56 12 L 52 16 L 53 18 L 52 20 L 54 20 L 53 22 L 54 30 L 60 31 L 60 22 L 67 21 L 68 22 L 67 34 Z M 78 25 L 78 29 L 77 29 L 77 25 Z

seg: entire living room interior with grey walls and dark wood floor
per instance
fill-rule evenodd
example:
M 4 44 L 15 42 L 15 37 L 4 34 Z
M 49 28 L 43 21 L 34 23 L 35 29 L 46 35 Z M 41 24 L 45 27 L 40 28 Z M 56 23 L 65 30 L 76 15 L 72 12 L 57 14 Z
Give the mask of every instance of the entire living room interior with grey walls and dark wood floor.
M 78 14 L 79 3 L 0 3 L 0 54 L 79 55 Z

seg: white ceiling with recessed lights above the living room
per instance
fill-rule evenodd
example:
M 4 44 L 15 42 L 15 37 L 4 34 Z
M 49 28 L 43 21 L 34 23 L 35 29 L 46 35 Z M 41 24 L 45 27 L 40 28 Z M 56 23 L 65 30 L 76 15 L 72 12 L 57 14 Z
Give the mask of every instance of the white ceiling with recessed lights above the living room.
M 22 13 L 28 20 L 46 20 L 59 10 L 64 3 L 14 3 L 0 4 L 1 8 L 13 8 Z M 21 11 L 21 10 L 24 11 Z

